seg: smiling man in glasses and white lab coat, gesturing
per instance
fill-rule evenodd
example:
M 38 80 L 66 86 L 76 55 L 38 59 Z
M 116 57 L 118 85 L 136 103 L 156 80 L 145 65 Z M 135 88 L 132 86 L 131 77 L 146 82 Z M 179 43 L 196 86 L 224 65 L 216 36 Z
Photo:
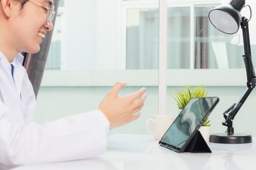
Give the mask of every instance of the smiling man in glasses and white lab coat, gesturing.
M 33 121 L 35 94 L 19 51 L 35 53 L 53 29 L 53 0 L 0 0 L 0 168 L 93 157 L 106 150 L 108 129 L 139 118 L 145 88 L 125 97 L 116 83 L 99 108 Z M 138 114 L 137 114 L 138 113 Z

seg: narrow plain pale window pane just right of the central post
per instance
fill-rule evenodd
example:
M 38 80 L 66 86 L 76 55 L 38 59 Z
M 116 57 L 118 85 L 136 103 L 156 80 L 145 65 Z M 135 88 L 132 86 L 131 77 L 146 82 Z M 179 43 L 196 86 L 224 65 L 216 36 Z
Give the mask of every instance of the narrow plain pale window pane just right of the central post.
M 167 68 L 190 68 L 190 8 L 168 8 Z

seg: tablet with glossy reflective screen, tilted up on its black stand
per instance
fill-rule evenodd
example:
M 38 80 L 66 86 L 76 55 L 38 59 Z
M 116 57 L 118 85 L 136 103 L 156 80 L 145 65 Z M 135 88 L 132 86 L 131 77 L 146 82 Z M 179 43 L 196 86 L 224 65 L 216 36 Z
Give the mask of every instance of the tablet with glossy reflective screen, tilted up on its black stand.
M 175 152 L 184 152 L 218 102 L 218 97 L 192 98 L 173 121 L 159 144 Z

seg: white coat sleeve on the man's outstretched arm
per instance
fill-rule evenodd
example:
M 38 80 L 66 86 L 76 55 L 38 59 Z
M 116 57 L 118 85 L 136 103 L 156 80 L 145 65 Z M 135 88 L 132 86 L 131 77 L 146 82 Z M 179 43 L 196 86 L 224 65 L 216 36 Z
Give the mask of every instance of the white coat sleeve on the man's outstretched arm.
M 106 150 L 109 122 L 99 111 L 23 126 L 5 119 L 0 102 L 0 165 L 9 167 L 94 157 Z

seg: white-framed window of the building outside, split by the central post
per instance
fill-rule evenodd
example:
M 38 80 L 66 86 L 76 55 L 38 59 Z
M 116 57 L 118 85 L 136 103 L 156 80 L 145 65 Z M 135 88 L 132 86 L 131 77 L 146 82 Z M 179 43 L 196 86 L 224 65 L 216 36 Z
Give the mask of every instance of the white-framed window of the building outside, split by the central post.
M 167 13 L 168 69 L 244 68 L 243 46 L 237 45 L 238 40 L 235 40 L 240 38 L 242 41 L 242 35 L 224 34 L 213 27 L 208 13 L 219 3 L 217 0 L 212 3 L 170 2 Z M 126 8 L 126 69 L 156 69 L 159 11 L 135 7 L 136 4 Z M 252 53 L 255 53 L 254 44 Z M 253 60 L 256 62 L 256 58 Z

